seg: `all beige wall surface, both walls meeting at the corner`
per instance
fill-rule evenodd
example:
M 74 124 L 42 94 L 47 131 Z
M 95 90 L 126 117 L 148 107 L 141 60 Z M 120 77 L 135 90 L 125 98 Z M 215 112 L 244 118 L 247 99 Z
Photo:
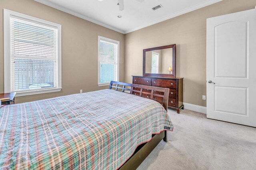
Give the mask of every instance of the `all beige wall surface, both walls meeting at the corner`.
M 176 43 L 176 76 L 184 77 L 184 102 L 206 106 L 202 100 L 206 94 L 206 18 L 249 10 L 255 5 L 255 0 L 223 0 L 123 35 L 34 0 L 0 0 L 0 93 L 4 92 L 6 8 L 62 25 L 62 91 L 19 97 L 17 103 L 74 94 L 80 89 L 88 92 L 106 88 L 97 85 L 100 35 L 120 41 L 120 81 L 125 82 L 132 82 L 132 75 L 142 75 L 142 49 Z

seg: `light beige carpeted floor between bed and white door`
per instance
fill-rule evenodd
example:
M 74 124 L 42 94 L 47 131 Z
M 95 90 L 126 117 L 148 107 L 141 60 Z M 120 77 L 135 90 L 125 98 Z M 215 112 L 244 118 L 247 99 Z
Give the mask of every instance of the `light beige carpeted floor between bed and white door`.
M 138 170 L 255 170 L 256 128 L 207 119 L 206 114 L 169 109 L 174 131 Z

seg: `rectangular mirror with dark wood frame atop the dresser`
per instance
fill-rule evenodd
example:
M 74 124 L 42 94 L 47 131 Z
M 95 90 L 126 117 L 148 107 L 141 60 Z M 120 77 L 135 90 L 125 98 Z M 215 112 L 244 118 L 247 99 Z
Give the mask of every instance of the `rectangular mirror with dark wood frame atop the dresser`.
M 175 77 L 176 44 L 143 50 L 143 76 Z

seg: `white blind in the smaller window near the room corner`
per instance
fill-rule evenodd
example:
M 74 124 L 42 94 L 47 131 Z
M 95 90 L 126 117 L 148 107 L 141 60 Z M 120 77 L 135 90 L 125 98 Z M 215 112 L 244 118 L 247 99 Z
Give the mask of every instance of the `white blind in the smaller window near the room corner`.
M 118 81 L 118 43 L 100 39 L 100 83 Z

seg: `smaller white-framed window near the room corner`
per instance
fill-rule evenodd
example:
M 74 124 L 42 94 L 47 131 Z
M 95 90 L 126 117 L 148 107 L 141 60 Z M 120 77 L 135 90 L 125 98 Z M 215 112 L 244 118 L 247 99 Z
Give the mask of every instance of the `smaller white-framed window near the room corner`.
M 119 81 L 119 41 L 98 37 L 98 86 Z

